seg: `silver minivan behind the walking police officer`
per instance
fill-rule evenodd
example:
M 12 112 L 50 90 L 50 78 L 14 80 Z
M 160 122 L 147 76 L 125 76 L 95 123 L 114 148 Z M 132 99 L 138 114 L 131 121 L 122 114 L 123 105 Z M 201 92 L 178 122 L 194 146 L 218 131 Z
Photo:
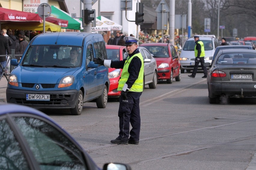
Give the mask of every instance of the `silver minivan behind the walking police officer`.
M 205 50 L 205 57 L 204 60 L 206 63 L 210 63 L 212 61 L 213 54 L 215 52 L 215 48 L 220 45 L 219 41 L 215 37 L 215 35 L 197 35 L 199 36 L 199 39 L 204 44 L 204 50 Z M 194 37 L 190 37 L 187 39 L 185 44 L 183 45 L 181 49 L 181 54 L 179 57 L 180 63 L 181 63 L 181 73 L 184 73 L 186 70 L 187 72 L 190 72 L 194 69 L 195 65 L 195 41 Z M 198 70 L 202 70 L 201 64 L 199 63 Z

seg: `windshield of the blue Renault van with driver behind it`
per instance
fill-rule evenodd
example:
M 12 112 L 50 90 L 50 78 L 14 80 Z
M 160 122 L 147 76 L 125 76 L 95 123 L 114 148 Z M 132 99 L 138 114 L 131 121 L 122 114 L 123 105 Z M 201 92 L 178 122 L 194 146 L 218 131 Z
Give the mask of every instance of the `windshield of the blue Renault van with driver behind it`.
M 74 68 L 82 63 L 83 48 L 80 46 L 33 45 L 30 46 L 24 59 L 23 66 L 54 66 Z

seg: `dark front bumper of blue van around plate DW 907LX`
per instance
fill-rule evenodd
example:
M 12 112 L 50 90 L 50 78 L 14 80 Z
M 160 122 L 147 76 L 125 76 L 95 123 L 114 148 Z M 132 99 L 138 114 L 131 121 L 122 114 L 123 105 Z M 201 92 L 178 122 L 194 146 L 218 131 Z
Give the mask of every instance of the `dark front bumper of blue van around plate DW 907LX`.
M 28 100 L 27 94 L 50 95 L 50 100 Z M 34 108 L 75 108 L 78 99 L 78 91 L 63 90 L 63 91 L 29 91 L 6 89 L 7 103 L 22 104 Z

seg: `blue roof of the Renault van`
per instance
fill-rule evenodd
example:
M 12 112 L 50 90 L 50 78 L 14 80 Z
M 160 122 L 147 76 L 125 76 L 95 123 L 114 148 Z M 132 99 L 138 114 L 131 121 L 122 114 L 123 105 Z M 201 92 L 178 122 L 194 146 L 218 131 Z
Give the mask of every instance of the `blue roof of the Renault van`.
M 101 34 L 86 32 L 54 32 L 39 34 L 34 37 L 30 45 L 74 45 L 83 46 L 84 40 L 104 41 Z

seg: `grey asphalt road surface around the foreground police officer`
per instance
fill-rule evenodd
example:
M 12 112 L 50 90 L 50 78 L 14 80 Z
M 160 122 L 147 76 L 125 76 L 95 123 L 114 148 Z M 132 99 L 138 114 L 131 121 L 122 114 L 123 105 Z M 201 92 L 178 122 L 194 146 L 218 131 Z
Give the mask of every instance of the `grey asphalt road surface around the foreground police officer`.
M 182 74 L 180 82 L 160 81 L 144 89 L 140 99 L 139 145 L 114 145 L 118 136 L 119 103 L 105 109 L 84 104 L 80 116 L 66 110 L 44 110 L 65 128 L 93 160 L 130 164 L 141 169 L 256 169 L 256 113 L 254 100 L 209 104 L 206 79 Z M 249 166 L 248 166 L 249 165 Z

